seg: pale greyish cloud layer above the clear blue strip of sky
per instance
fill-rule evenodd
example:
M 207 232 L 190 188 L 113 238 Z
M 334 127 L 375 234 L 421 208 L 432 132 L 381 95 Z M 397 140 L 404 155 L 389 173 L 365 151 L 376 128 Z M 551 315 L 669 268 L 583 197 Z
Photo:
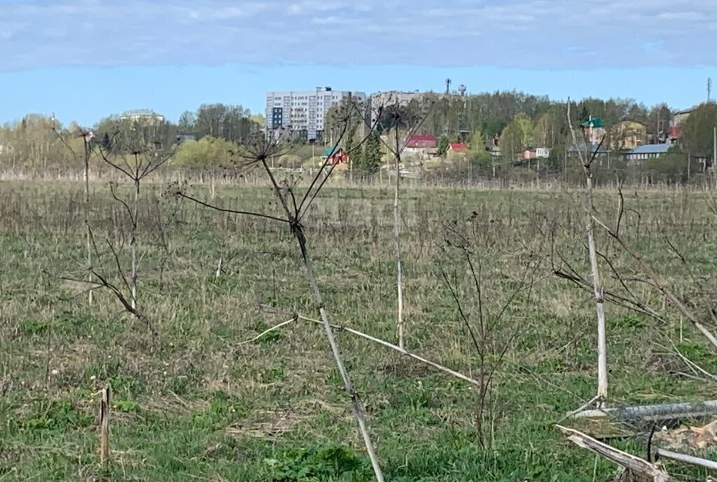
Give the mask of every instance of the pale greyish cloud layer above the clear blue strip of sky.
M 0 72 L 121 65 L 715 66 L 717 1 L 0 0 Z

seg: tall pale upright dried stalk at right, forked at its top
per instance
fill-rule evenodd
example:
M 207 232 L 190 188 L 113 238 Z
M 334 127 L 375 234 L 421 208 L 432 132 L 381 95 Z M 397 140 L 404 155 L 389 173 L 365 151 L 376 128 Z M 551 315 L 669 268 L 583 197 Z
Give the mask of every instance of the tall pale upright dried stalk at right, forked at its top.
M 607 401 L 607 346 L 605 343 L 605 308 L 604 298 L 602 293 L 602 284 L 600 283 L 599 266 L 597 264 L 597 250 L 595 249 L 595 205 L 594 205 L 594 194 L 593 194 L 593 178 L 592 178 L 592 162 L 595 160 L 597 153 L 602 147 L 604 137 L 600 141 L 597 148 L 594 150 L 592 155 L 587 151 L 587 141 L 584 140 L 585 152 L 580 150 L 575 131 L 573 130 L 573 123 L 570 116 L 570 99 L 568 99 L 568 126 L 570 129 L 573 142 L 575 143 L 575 149 L 580 158 L 580 162 L 583 167 L 585 174 L 585 208 L 587 210 L 586 215 L 586 229 L 587 229 L 587 246 L 590 257 L 590 270 L 593 280 L 594 296 L 595 296 L 595 311 L 597 312 L 597 404 L 598 407 L 603 407 Z M 591 146 L 592 148 L 592 146 Z

